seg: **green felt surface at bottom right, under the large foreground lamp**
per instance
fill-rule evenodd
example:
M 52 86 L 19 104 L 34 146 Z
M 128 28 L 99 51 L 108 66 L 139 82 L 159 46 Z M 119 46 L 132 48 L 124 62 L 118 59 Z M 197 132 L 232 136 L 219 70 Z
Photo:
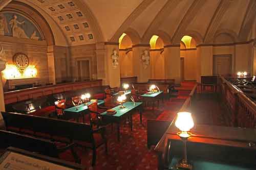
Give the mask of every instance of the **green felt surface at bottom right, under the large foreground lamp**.
M 174 157 L 172 163 L 170 163 L 169 165 L 169 169 L 176 169 L 175 166 L 179 160 L 180 158 Z M 188 160 L 191 161 L 191 164 L 193 165 L 193 170 L 255 170 L 255 167 L 243 167 L 242 165 L 220 163 L 202 159 Z

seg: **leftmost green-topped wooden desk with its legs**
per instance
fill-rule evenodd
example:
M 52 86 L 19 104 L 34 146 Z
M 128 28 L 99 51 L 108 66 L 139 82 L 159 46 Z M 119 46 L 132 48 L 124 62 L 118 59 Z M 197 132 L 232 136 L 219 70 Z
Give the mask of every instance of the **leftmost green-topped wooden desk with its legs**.
M 76 122 L 79 122 L 79 117 L 82 116 L 82 122 L 84 123 L 84 115 L 89 114 L 88 106 L 92 104 L 92 102 L 88 102 L 87 105 L 81 104 L 78 106 L 70 107 L 68 109 L 64 109 L 65 119 L 76 118 Z M 98 105 L 104 104 L 104 101 L 98 100 Z

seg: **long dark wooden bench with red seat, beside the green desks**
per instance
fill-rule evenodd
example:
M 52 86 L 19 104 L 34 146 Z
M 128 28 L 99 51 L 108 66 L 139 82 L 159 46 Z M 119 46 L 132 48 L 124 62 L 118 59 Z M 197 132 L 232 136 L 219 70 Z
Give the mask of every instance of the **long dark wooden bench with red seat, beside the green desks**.
M 96 149 L 107 141 L 104 136 L 104 127 L 92 129 L 88 124 L 68 122 L 41 116 L 20 113 L 2 112 L 7 130 L 26 133 L 37 137 L 52 139 L 78 145 L 93 150 L 92 165 L 96 162 Z

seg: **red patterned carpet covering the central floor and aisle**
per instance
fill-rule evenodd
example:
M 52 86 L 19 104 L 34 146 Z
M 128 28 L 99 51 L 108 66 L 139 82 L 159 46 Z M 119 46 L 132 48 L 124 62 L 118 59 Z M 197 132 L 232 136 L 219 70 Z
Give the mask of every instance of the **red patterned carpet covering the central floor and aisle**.
M 194 83 L 193 83 L 194 84 Z M 185 86 L 191 88 L 192 83 Z M 120 142 L 117 141 L 116 128 L 107 128 L 108 155 L 104 152 L 104 145 L 97 149 L 96 166 L 91 166 L 92 151 L 84 148 L 76 148 L 81 158 L 82 165 L 87 169 L 157 169 L 158 160 L 154 150 L 147 149 L 146 121 L 147 119 L 172 121 L 177 111 L 181 108 L 188 93 L 179 93 L 178 98 L 161 103 L 155 111 L 151 107 L 144 108 L 143 125 L 140 124 L 139 114 L 133 115 L 133 131 L 127 123 L 123 122 L 120 128 Z M 67 155 L 65 160 L 72 160 Z

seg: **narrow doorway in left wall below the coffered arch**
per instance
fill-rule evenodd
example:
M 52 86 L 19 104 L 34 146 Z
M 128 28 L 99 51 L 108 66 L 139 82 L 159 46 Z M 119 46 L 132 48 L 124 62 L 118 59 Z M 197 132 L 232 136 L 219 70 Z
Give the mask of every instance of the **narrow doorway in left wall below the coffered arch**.
M 90 61 L 83 60 L 77 61 L 78 65 L 78 80 L 87 81 L 90 80 Z

